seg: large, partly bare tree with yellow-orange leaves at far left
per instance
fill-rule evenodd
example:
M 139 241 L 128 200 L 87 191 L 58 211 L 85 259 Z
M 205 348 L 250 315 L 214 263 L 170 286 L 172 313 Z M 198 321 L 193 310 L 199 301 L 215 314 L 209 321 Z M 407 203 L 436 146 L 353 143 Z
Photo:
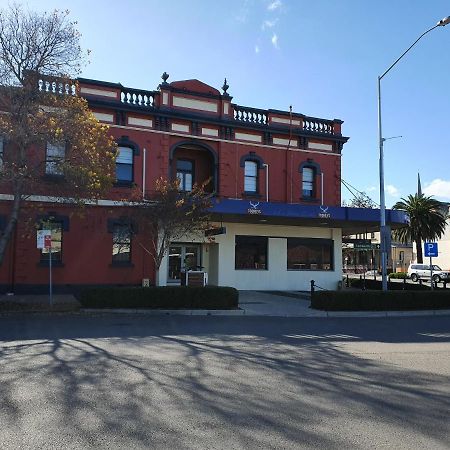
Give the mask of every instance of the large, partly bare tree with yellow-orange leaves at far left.
M 67 11 L 0 10 L 0 263 L 32 195 L 95 201 L 114 181 L 117 146 L 77 95 L 84 60 Z

